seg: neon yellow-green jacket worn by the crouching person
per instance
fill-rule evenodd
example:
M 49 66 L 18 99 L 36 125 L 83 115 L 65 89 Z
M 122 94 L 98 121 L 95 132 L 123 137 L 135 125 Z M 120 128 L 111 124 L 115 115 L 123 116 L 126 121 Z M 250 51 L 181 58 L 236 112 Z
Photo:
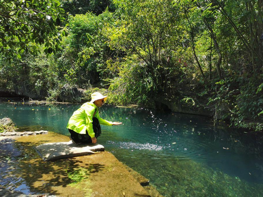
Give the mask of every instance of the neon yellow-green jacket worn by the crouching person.
M 94 114 L 95 112 L 95 114 Z M 74 130 L 79 134 L 86 134 L 86 130 L 90 137 L 95 137 L 92 128 L 92 118 L 96 117 L 100 124 L 111 126 L 112 122 L 103 120 L 99 117 L 98 108 L 94 103 L 84 103 L 78 110 L 74 111 L 67 124 L 67 128 Z

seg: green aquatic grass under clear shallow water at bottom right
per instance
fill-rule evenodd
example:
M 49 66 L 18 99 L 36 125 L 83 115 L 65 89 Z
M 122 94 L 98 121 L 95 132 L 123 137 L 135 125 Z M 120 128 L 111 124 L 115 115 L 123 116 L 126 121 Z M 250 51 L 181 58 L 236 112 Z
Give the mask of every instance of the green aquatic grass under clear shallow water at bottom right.
M 263 195 L 262 184 L 252 186 L 239 177 L 229 176 L 219 169 L 214 170 L 192 160 L 173 158 L 172 160 L 166 159 L 166 164 L 155 162 L 156 170 L 149 168 L 151 162 L 145 160 L 142 163 L 145 165 L 140 167 L 143 168 L 143 171 L 139 168 L 134 169 L 149 178 L 157 190 L 165 196 Z M 165 183 L 163 177 L 166 177 Z

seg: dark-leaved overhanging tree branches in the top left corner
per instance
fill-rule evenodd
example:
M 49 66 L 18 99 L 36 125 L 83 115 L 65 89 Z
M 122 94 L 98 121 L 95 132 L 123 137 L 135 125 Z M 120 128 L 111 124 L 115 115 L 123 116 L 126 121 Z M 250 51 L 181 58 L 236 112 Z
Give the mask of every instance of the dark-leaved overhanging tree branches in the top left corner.
M 45 44 L 46 54 L 55 53 L 66 33 L 59 33 L 63 15 L 57 0 L 0 0 L 0 52 L 21 58 L 24 51 L 36 55 Z

